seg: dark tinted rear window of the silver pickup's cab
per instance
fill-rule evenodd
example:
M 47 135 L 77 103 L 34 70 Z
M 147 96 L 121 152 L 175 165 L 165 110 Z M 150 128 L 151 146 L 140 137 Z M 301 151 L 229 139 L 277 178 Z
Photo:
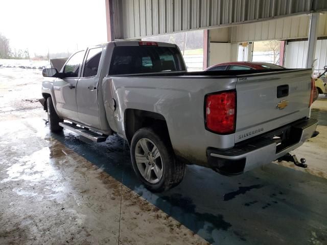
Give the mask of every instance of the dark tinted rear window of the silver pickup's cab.
M 145 74 L 185 70 L 174 47 L 118 46 L 113 50 L 109 75 Z

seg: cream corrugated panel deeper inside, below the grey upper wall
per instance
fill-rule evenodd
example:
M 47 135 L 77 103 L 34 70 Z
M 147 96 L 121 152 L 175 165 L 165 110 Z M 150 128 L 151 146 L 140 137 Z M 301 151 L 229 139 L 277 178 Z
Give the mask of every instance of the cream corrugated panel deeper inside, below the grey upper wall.
M 327 2 L 327 1 L 326 1 Z M 301 15 L 264 22 L 242 24 L 230 28 L 231 42 L 263 41 L 272 39 L 306 38 L 310 16 Z M 318 36 L 327 36 L 327 14 L 319 15 Z

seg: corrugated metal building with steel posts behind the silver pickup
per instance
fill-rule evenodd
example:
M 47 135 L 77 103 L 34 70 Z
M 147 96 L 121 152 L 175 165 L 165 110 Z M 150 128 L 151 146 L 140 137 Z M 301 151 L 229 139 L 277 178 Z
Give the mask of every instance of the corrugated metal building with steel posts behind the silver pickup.
M 298 32 L 297 36 L 310 36 L 306 50 L 308 57 L 306 66 L 309 67 L 315 54 L 318 15 L 319 12 L 327 10 L 327 1 L 324 0 L 105 1 L 108 40 L 141 39 L 161 34 L 203 29 L 205 30 L 204 66 L 216 62 L 210 60 L 209 53 L 215 52 L 217 45 L 230 45 L 227 50 L 230 48 L 229 57 L 233 60 L 236 55 L 237 42 L 255 41 L 258 38 L 259 40 L 294 38 L 294 27 L 292 23 L 288 24 L 287 22 L 292 22 L 289 17 L 299 16 L 298 23 L 302 26 L 305 25 L 306 28 L 301 27 L 300 31 L 303 33 Z M 312 23 L 311 32 L 309 32 L 310 23 Z M 267 27 L 274 25 L 276 31 L 271 35 L 272 31 Z M 251 37 L 253 30 L 254 36 Z M 267 30 L 270 30 L 268 36 Z M 282 35 L 280 35 L 281 33 Z M 225 50 L 224 47 L 223 49 Z

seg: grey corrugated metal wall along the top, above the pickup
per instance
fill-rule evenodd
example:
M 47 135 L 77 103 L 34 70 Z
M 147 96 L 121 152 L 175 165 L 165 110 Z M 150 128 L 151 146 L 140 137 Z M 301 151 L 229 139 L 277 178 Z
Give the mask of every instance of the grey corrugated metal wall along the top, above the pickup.
M 327 9 L 326 0 L 112 0 L 115 38 L 213 28 Z

